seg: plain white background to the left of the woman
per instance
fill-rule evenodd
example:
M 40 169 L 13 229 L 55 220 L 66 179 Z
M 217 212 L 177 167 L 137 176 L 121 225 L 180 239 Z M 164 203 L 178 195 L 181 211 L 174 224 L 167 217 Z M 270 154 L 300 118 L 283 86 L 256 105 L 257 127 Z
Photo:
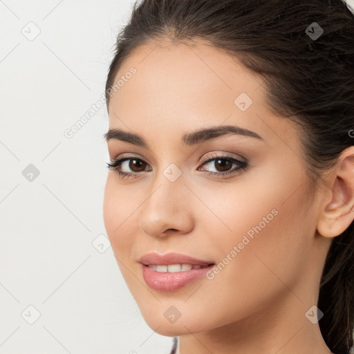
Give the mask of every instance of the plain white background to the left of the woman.
M 145 324 L 105 238 L 105 106 L 64 136 L 102 97 L 132 3 L 0 1 L 0 354 L 171 348 Z

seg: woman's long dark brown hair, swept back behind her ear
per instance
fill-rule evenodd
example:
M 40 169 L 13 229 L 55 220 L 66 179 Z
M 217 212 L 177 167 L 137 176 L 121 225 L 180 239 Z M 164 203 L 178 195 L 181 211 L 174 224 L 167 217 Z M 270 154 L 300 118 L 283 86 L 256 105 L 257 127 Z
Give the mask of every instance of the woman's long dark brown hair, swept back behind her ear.
M 201 39 L 261 75 L 270 109 L 302 128 L 312 180 L 354 145 L 354 15 L 344 1 L 136 2 L 115 44 L 107 108 L 109 88 L 124 59 L 139 46 L 166 38 L 175 43 Z M 324 313 L 319 328 L 327 346 L 348 353 L 354 321 L 353 223 L 333 239 L 317 306 Z

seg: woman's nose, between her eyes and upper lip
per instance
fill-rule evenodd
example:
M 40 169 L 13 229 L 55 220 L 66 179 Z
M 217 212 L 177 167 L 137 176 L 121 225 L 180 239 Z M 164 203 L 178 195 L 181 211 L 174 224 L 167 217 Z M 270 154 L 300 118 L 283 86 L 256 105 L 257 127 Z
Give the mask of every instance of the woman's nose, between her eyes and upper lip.
M 161 172 L 151 183 L 147 200 L 140 208 L 142 232 L 156 238 L 191 232 L 194 227 L 191 197 L 183 174 L 171 182 Z

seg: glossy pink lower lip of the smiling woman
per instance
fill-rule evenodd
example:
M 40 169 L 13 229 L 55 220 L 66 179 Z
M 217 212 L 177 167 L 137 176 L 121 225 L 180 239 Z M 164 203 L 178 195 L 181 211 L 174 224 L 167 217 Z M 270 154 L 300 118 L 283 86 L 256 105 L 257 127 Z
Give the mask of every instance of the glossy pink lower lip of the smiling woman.
M 142 264 L 142 276 L 150 288 L 158 291 L 174 291 L 186 286 L 191 281 L 203 277 L 214 265 L 209 267 L 185 270 L 183 272 L 157 272 Z

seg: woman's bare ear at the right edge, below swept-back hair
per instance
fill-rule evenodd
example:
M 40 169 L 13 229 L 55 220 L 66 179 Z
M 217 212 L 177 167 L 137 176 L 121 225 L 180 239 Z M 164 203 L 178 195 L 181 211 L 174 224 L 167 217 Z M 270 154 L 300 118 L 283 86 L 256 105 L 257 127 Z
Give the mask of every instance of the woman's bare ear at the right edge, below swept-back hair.
M 325 182 L 317 231 L 322 236 L 335 237 L 354 219 L 354 146 L 342 151 Z

